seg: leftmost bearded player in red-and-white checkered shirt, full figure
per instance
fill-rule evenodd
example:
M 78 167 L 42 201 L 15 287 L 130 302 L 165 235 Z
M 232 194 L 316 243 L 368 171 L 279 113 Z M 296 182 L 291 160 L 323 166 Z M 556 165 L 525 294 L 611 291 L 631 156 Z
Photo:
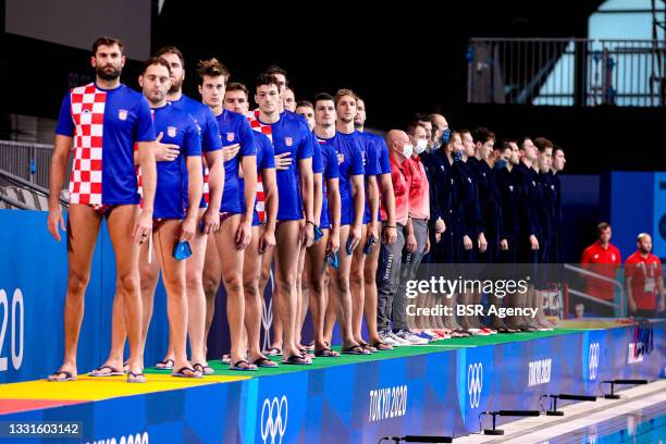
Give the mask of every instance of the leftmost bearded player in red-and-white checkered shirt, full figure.
M 65 353 L 60 369 L 49 381 L 76 379 L 76 347 L 84 313 L 84 295 L 90 278 L 92 254 L 102 218 L 107 218 L 113 244 L 119 296 L 123 297 L 130 338 L 130 372 L 143 373 L 140 351 L 139 246 L 152 231 L 156 189 L 155 128 L 148 101 L 121 84 L 125 64 L 123 44 L 100 37 L 92 45 L 92 84 L 72 89 L 62 101 L 51 158 L 48 230 L 60 240 L 65 230 L 59 197 L 66 162 L 74 147 L 70 177 L 67 219 L 69 275 L 65 300 Z M 134 165 L 138 145 L 143 181 L 143 206 Z M 104 155 L 106 153 L 106 155 Z M 135 379 L 128 378 L 128 382 Z

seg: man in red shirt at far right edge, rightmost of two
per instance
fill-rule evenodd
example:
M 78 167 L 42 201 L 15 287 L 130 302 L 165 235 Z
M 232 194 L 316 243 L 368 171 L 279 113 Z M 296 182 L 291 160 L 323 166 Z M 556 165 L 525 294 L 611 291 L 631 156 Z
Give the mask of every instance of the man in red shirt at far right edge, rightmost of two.
M 629 313 L 636 317 L 654 318 L 655 311 L 664 311 L 666 299 L 662 261 L 651 252 L 652 236 L 648 233 L 639 234 L 636 244 L 638 251 L 629 256 L 625 262 Z M 659 295 L 658 304 L 657 294 Z

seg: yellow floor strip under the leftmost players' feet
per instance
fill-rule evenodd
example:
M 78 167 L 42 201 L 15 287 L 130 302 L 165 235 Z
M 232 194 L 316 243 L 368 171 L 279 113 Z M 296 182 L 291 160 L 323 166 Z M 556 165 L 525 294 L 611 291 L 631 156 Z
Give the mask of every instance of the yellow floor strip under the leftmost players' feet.
M 130 384 L 125 377 L 78 377 L 76 381 L 48 382 L 46 380 L 17 382 L 0 386 L 0 399 L 66 399 L 100 400 L 119 396 L 140 395 L 206 385 L 218 382 L 234 382 L 246 377 L 206 377 L 192 380 L 169 374 L 147 374 L 145 384 Z

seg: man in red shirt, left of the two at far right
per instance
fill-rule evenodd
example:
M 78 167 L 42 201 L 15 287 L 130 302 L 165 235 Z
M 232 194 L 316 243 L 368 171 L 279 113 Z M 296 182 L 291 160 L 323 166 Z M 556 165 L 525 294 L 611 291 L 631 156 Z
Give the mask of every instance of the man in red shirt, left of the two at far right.
M 584 249 L 580 263 L 592 273 L 615 279 L 622 260 L 619 249 L 610 244 L 610 225 L 607 222 L 600 223 L 596 225 L 596 233 L 597 240 Z M 615 286 L 610 282 L 592 276 L 587 278 L 585 293 L 606 301 L 615 299 Z M 596 314 L 614 316 L 613 307 L 603 304 L 592 304 L 592 311 Z

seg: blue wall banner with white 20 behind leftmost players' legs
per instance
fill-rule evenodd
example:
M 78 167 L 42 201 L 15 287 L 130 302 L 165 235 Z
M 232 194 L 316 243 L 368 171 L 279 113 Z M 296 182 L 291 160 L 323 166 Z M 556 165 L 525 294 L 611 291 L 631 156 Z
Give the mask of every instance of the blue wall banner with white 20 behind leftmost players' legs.
M 46 226 L 46 212 L 0 210 L 0 383 L 46 378 L 62 362 L 66 233 L 58 243 Z M 79 372 L 107 359 L 114 293 L 115 259 L 103 223 L 85 296 Z M 166 297 L 160 284 L 146 345 L 148 365 L 162 358 L 166 335 Z

